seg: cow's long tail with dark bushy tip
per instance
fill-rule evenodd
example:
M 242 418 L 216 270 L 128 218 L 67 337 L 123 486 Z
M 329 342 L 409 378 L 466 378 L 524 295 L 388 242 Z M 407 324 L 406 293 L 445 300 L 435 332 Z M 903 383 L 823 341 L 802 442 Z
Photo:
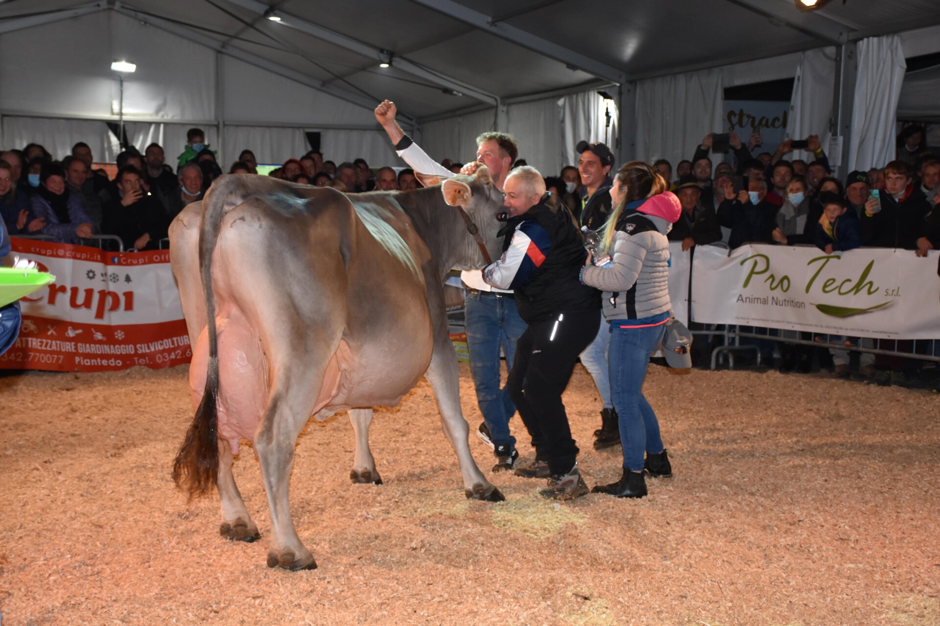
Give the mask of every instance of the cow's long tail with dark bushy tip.
M 173 481 L 192 500 L 205 496 L 215 487 L 219 475 L 218 403 L 219 349 L 215 329 L 215 301 L 212 293 L 212 252 L 219 238 L 226 206 L 241 204 L 238 176 L 216 180 L 202 203 L 199 225 L 199 273 L 206 298 L 206 330 L 209 335 L 209 372 L 202 402 L 190 424 L 180 451 L 173 461 Z

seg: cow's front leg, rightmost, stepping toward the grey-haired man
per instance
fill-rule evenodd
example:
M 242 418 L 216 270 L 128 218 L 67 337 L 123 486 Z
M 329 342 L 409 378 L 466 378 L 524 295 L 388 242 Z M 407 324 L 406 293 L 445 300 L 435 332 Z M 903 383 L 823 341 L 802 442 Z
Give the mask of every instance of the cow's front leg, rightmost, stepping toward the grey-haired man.
M 467 497 L 477 500 L 500 502 L 506 498 L 490 481 L 486 480 L 470 453 L 470 444 L 467 441 L 470 428 L 467 426 L 467 421 L 463 419 L 461 411 L 460 370 L 457 366 L 457 357 L 454 354 L 454 346 L 450 343 L 450 337 L 445 332 L 442 340 L 440 334 L 434 333 L 434 353 L 425 377 L 431 383 L 431 389 L 434 390 L 434 398 L 437 400 L 437 408 L 441 412 L 441 421 L 444 424 L 444 433 L 450 440 L 450 445 L 457 451 L 457 459 L 460 461 L 463 474 L 464 493 Z

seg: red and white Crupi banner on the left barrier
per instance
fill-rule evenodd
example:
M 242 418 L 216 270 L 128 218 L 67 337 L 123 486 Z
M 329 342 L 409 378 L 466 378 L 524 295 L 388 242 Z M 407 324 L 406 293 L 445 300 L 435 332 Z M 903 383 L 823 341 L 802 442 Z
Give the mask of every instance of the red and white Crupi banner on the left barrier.
M 192 352 L 169 251 L 97 248 L 11 237 L 13 254 L 55 282 L 20 300 L 23 326 L 0 369 L 106 372 L 188 363 Z

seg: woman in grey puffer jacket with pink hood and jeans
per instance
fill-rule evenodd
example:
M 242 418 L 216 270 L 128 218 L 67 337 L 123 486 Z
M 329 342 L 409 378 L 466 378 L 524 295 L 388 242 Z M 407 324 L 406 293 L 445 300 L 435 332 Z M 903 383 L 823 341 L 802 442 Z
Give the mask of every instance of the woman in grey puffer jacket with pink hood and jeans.
M 644 470 L 655 477 L 672 475 L 659 422 L 643 397 L 650 355 L 672 316 L 666 233 L 682 205 L 667 189 L 668 183 L 647 163 L 633 161 L 620 168 L 611 189 L 615 208 L 603 233 L 603 248 L 612 251 L 613 265 L 596 267 L 588 257 L 581 271 L 582 282 L 603 290 L 603 315 L 610 323 L 610 395 L 619 416 L 623 476 L 593 491 L 611 496 L 646 496 Z

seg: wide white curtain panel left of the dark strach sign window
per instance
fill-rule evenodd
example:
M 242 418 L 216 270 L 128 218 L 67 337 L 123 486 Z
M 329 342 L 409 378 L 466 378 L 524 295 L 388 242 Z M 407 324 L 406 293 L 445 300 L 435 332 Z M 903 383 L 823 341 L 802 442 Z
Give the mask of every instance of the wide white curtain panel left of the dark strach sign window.
M 721 73 L 708 69 L 636 83 L 636 156 L 692 159 L 702 138 L 723 128 Z M 713 161 L 716 161 L 713 159 Z

